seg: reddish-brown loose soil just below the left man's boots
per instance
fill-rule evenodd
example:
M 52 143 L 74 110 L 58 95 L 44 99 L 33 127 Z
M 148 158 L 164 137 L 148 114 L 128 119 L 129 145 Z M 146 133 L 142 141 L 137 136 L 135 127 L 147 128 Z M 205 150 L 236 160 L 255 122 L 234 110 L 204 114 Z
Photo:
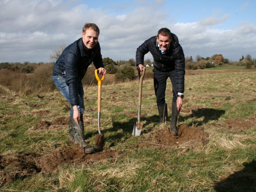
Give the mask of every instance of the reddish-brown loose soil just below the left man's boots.
M 121 154 L 117 150 L 107 150 L 99 153 L 84 154 L 81 148 L 74 146 L 72 149 L 57 148 L 44 156 L 40 161 L 42 171 L 52 173 L 59 165 L 63 164 L 93 164 L 106 158 L 116 158 Z

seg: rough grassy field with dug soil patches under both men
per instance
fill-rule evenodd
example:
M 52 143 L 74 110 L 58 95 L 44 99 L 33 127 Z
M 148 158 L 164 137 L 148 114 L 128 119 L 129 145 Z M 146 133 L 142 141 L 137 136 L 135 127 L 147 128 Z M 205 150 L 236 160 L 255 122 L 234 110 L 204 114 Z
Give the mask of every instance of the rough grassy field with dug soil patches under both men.
M 93 146 L 97 86 L 84 91 Z M 171 92 L 168 80 L 169 119 Z M 69 105 L 59 92 L 18 98 L 0 89 L 0 191 L 256 191 L 255 92 L 255 70 L 188 71 L 179 136 L 172 138 L 159 123 L 153 80 L 145 79 L 143 131 L 133 137 L 138 81 L 103 81 L 105 147 L 79 155 L 68 143 Z

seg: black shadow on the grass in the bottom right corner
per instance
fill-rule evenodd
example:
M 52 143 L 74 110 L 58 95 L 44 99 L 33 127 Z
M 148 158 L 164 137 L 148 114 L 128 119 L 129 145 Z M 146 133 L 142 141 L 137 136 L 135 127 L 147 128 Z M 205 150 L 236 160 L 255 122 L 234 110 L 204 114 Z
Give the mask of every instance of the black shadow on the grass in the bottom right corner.
M 217 192 L 224 191 L 256 191 L 256 161 L 245 165 L 244 169 L 234 172 L 228 178 L 214 185 Z

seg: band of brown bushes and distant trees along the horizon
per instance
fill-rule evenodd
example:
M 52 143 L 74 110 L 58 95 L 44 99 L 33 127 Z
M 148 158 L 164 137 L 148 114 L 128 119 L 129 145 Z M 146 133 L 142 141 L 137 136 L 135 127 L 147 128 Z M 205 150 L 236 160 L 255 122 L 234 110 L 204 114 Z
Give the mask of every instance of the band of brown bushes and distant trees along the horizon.
M 15 92 L 20 92 L 21 95 L 26 95 L 33 92 L 41 92 L 43 90 L 54 90 L 56 87 L 52 82 L 52 67 L 54 62 L 59 58 L 61 52 L 65 49 L 66 45 L 60 45 L 57 50 L 53 50 L 49 56 L 52 62 L 44 63 L 30 63 L 25 61 L 20 62 L 2 62 L 0 63 L 0 84 L 10 88 Z M 188 70 L 204 69 L 220 66 L 245 66 L 247 69 L 256 68 L 256 59 L 252 59 L 250 54 L 245 57 L 242 55 L 239 61 L 229 61 L 224 58 L 222 54 L 214 54 L 212 57 L 202 57 L 196 55 L 195 60 L 192 56 L 185 57 L 185 68 Z M 109 84 L 115 82 L 124 82 L 133 80 L 138 74 L 135 66 L 134 59 L 129 60 L 117 60 L 106 57 L 103 58 L 103 63 L 107 69 L 108 74 L 114 74 L 114 77 L 109 81 Z M 144 66 L 151 66 L 153 61 L 150 59 L 144 60 Z M 254 65 L 254 66 L 253 66 Z M 97 84 L 97 81 L 93 72 L 94 68 L 89 67 L 88 73 L 86 73 L 83 83 L 86 85 Z M 28 75 L 30 74 L 30 75 Z M 153 78 L 152 70 L 149 70 L 146 74 L 147 78 Z M 105 81 L 107 84 L 107 80 Z

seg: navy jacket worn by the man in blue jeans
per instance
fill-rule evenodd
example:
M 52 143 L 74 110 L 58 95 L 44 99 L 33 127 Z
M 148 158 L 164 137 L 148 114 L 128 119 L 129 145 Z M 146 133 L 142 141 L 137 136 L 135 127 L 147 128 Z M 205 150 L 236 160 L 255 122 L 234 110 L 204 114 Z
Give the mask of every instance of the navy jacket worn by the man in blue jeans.
M 104 67 L 99 42 L 86 52 L 82 38 L 68 45 L 53 66 L 52 75 L 63 76 L 68 85 L 71 106 L 78 105 L 77 83 L 84 78 L 88 66 L 93 62 L 95 68 Z

